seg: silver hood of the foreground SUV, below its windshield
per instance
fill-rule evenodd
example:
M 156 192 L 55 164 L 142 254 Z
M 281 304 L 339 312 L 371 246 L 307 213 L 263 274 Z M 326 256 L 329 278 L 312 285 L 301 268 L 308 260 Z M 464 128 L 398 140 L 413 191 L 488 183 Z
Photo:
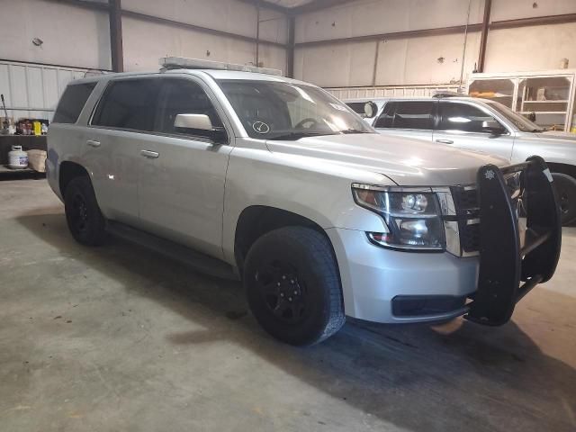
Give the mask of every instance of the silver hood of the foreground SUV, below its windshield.
M 394 183 L 406 186 L 473 184 L 480 166 L 509 164 L 504 158 L 480 152 L 378 133 L 268 140 L 266 145 L 273 153 L 318 157 L 386 175 Z

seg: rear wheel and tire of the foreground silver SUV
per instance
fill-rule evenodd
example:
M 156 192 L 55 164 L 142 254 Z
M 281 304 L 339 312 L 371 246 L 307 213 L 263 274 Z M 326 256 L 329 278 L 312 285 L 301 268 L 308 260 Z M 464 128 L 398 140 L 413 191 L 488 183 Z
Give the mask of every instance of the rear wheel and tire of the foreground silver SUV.
M 64 209 L 68 229 L 78 243 L 85 246 L 103 243 L 106 221 L 88 177 L 76 177 L 70 181 L 64 191 Z

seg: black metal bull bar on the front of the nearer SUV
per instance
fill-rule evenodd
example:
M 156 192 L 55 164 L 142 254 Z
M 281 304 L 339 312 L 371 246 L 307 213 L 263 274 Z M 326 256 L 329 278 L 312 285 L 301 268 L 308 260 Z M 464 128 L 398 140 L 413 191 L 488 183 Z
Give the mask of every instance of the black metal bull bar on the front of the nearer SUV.
M 509 175 L 519 177 L 517 196 L 511 196 Z M 528 157 L 517 165 L 482 166 L 477 187 L 478 289 L 464 318 L 500 326 L 510 320 L 516 304 L 532 288 L 554 275 L 562 243 L 560 207 L 542 157 Z

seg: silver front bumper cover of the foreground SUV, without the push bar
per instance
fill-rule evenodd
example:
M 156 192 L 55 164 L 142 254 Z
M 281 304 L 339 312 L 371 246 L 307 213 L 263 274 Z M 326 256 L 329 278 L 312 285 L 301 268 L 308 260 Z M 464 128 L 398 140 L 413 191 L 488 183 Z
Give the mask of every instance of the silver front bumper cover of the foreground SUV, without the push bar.
M 454 311 L 409 316 L 394 314 L 392 304 L 397 297 L 456 299 L 471 295 L 477 286 L 478 257 L 400 252 L 374 246 L 364 231 L 331 228 L 326 232 L 338 259 L 348 316 L 405 323 L 449 320 L 466 312 L 463 306 Z

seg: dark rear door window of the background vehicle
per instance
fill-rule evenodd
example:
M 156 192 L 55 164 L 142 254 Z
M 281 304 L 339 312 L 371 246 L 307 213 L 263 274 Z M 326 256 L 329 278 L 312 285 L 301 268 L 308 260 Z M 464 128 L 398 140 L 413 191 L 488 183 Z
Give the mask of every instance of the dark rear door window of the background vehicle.
M 374 127 L 431 130 L 434 104 L 427 101 L 388 103 Z

